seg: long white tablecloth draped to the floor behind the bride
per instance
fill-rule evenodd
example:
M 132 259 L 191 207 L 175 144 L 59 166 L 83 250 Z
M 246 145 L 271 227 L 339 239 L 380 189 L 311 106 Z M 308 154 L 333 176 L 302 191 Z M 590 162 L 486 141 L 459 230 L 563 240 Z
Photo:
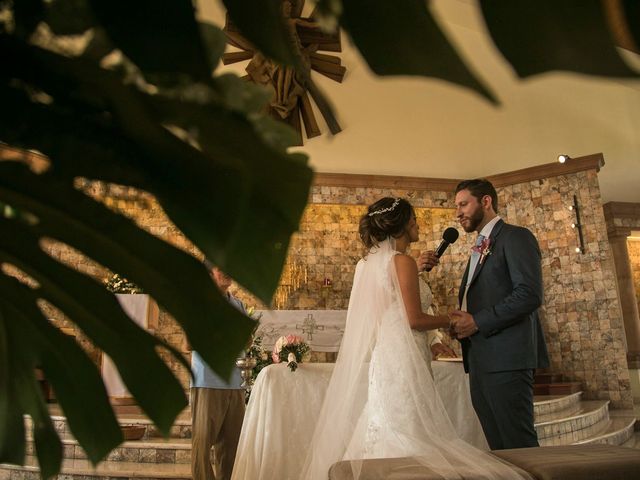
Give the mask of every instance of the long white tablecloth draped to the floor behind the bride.
M 300 480 L 333 363 L 270 365 L 256 380 L 242 424 L 232 480 Z M 458 434 L 488 450 L 461 363 L 433 362 L 434 380 Z M 340 399 L 336 399 L 340 401 Z

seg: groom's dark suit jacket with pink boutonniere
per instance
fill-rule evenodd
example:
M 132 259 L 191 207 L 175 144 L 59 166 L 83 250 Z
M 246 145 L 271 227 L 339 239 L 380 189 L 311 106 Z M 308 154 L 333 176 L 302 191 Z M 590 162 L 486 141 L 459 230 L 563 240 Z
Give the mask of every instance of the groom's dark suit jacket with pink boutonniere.
M 467 311 L 478 332 L 461 340 L 465 371 L 470 365 L 481 372 L 547 367 L 549 356 L 538 318 L 543 299 L 538 242 L 526 228 L 502 220 L 489 238 L 491 253 L 476 266 L 467 292 Z

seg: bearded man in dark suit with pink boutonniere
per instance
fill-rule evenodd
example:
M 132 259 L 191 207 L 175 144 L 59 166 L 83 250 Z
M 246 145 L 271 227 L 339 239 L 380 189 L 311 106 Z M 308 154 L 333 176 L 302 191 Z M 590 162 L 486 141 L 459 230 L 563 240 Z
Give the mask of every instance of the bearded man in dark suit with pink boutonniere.
M 538 242 L 497 215 L 498 196 L 487 180 L 461 182 L 455 204 L 465 232 L 479 234 L 462 278 L 460 310 L 451 314 L 473 407 L 492 450 L 537 447 L 533 376 L 549 365 L 537 312 Z

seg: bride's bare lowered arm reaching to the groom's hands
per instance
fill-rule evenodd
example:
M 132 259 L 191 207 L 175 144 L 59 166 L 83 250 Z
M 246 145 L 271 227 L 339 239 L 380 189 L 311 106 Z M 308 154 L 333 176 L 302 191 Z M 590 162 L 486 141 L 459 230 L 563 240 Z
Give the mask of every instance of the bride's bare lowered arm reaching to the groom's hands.
M 445 315 L 428 315 L 420 307 L 420 290 L 418 287 L 418 267 L 408 255 L 396 255 L 393 259 L 404 308 L 409 318 L 409 326 L 414 330 L 431 330 L 447 327 L 449 318 Z

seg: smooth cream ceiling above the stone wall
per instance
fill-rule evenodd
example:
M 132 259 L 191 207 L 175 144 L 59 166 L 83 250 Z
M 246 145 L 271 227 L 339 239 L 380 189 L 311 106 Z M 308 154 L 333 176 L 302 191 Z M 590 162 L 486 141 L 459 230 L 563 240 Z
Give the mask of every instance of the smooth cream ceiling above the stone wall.
M 201 15 L 223 25 L 217 2 Z M 308 2 L 311 3 L 311 2 Z M 347 73 L 338 84 L 314 79 L 343 131 L 305 140 L 302 151 L 324 173 L 470 178 L 602 152 L 603 203 L 640 202 L 640 80 L 549 73 L 519 80 L 486 33 L 474 0 L 432 2 L 449 39 L 500 99 L 426 78 L 373 75 L 343 36 Z M 622 51 L 640 72 L 640 56 Z M 239 66 L 223 67 L 244 74 Z

